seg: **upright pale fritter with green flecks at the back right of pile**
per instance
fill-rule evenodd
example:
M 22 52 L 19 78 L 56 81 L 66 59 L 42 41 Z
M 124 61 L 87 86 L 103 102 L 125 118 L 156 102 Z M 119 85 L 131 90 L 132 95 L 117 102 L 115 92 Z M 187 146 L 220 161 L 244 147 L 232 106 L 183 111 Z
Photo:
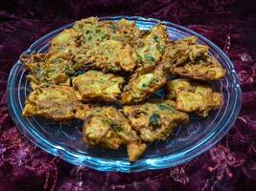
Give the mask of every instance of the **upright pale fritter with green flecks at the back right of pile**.
M 146 32 L 146 34 L 137 40 L 136 50 L 140 59 L 142 68 L 154 68 L 155 63 L 161 60 L 165 53 L 169 35 L 163 25 L 157 25 Z

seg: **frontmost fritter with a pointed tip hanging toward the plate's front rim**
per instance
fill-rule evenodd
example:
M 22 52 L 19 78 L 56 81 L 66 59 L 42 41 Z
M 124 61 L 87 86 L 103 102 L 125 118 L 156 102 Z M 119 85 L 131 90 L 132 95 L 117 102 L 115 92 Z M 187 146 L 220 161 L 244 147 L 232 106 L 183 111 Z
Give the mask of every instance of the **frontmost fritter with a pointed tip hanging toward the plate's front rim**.
M 114 107 L 104 107 L 88 114 L 82 128 L 88 145 L 100 145 L 109 149 L 118 149 L 121 144 L 128 145 L 128 159 L 138 159 L 146 150 L 136 132 L 131 129 L 128 120 Z

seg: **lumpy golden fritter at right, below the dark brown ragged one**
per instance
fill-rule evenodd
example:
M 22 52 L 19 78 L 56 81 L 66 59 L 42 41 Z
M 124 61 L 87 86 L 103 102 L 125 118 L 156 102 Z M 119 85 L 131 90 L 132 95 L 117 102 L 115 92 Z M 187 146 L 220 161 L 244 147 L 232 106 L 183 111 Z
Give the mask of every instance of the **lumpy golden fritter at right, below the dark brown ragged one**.
M 221 108 L 223 97 L 209 85 L 188 79 L 174 79 L 168 82 L 169 97 L 176 100 L 176 109 L 184 112 L 196 112 L 207 117 L 211 110 Z

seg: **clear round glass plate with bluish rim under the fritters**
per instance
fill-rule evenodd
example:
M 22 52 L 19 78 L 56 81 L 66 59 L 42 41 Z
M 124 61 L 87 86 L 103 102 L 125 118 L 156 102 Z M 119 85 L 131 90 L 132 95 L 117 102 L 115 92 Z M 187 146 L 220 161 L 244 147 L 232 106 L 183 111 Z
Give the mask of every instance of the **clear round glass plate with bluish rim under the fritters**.
M 136 16 L 102 17 L 101 20 L 117 21 L 121 18 L 135 21 L 141 30 L 149 30 L 152 26 L 161 23 L 167 26 L 171 39 L 196 35 L 199 44 L 208 45 L 210 53 L 227 71 L 224 78 L 213 83 L 215 89 L 220 91 L 224 97 L 221 109 L 211 113 L 207 118 L 193 117 L 189 124 L 177 128 L 170 138 L 149 144 L 145 155 L 130 163 L 125 148 L 117 151 L 88 148 L 82 139 L 81 122 L 77 120 L 62 125 L 39 117 L 22 117 L 25 99 L 29 96 L 31 89 L 26 78 L 28 71 L 20 61 L 17 61 L 12 67 L 8 81 L 8 104 L 13 121 L 27 138 L 44 151 L 72 164 L 101 171 L 136 172 L 162 169 L 197 157 L 214 146 L 238 117 L 242 92 L 232 62 L 219 47 L 207 38 L 170 22 Z M 71 28 L 72 25 L 66 25 L 44 35 L 24 53 L 46 52 L 49 49 L 49 41 L 62 30 Z

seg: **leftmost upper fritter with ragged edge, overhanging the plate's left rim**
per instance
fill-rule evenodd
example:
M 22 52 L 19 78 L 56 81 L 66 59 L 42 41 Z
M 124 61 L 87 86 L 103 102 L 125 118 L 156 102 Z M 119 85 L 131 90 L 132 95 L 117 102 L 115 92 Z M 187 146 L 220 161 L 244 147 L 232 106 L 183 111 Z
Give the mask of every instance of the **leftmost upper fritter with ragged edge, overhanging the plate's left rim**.
M 34 53 L 20 58 L 30 70 L 31 87 L 69 85 L 69 75 L 75 74 L 72 62 L 65 53 Z

